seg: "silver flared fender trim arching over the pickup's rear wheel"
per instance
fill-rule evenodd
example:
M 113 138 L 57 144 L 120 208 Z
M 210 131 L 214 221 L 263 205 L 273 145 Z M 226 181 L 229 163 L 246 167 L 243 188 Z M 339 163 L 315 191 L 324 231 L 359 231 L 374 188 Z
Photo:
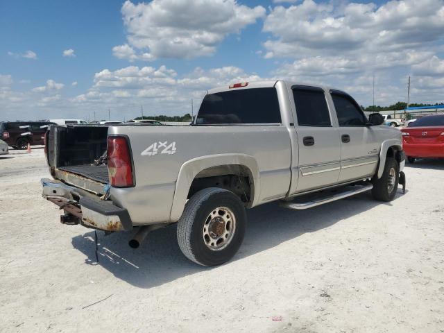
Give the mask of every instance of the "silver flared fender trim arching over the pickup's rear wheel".
M 187 202 L 187 196 L 191 183 L 196 175 L 205 169 L 222 165 L 242 165 L 250 171 L 250 179 L 253 182 L 253 205 L 259 200 L 259 167 L 255 158 L 246 154 L 216 154 L 196 157 L 182 164 L 180 167 L 176 188 L 174 190 L 173 205 L 171 207 L 170 221 L 180 219 Z

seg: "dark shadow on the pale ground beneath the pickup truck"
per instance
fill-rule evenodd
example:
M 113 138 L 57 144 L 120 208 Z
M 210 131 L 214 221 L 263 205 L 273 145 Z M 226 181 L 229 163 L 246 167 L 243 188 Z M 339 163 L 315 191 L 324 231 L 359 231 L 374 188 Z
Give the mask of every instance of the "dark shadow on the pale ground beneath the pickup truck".
M 398 189 L 396 198 L 402 196 Z M 269 203 L 248 210 L 248 225 L 244 243 L 232 260 L 241 260 L 268 248 L 273 248 L 307 232 L 316 232 L 371 210 L 377 205 L 391 205 L 373 200 L 370 193 L 358 194 L 311 210 L 287 210 L 278 203 Z M 375 221 L 377 223 L 377 221 Z M 176 225 L 155 230 L 148 235 L 140 248 L 128 246 L 133 232 L 117 232 L 99 238 L 99 262 L 96 262 L 94 232 L 72 239 L 74 248 L 84 253 L 85 262 L 100 265 L 139 288 L 151 288 L 213 268 L 198 266 L 182 255 L 176 240 Z M 290 258 L 289 258 L 290 259 Z

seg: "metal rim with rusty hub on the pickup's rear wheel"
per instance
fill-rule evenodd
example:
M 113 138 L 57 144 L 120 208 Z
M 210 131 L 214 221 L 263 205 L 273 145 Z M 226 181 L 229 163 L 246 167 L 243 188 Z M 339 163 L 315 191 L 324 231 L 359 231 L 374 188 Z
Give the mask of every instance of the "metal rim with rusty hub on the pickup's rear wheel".
M 203 241 L 213 251 L 223 250 L 232 241 L 236 217 L 228 207 L 214 208 L 203 225 Z

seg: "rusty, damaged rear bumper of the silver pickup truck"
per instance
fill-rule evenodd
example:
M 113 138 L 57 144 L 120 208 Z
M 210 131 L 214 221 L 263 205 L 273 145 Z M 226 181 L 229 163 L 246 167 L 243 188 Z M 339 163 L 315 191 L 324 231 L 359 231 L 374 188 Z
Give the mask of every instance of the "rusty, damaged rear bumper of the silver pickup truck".
M 58 205 L 65 214 L 76 216 L 81 225 L 105 231 L 133 229 L 128 211 L 114 205 L 111 200 L 101 200 L 98 196 L 59 180 L 44 178 L 41 182 L 42 196 Z

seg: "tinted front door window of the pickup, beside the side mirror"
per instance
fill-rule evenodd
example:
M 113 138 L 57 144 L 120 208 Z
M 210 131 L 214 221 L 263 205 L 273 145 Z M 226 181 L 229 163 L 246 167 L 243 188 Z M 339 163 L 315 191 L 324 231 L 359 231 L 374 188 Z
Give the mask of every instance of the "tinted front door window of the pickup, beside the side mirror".
M 339 126 L 366 126 L 366 116 L 354 99 L 343 92 L 331 91 Z

